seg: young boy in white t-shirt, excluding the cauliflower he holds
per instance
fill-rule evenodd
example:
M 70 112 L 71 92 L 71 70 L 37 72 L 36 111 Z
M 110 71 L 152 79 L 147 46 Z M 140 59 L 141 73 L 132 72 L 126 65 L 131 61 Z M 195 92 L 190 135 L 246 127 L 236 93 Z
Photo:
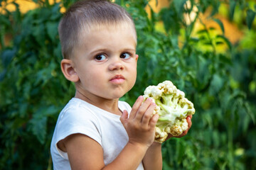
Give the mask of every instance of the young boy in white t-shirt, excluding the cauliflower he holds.
M 79 1 L 58 30 L 61 69 L 76 91 L 55 127 L 53 168 L 161 169 L 161 144 L 154 142 L 158 115 L 151 117 L 155 103 L 139 96 L 131 108 L 119 101 L 137 77 L 131 16 L 110 1 Z

